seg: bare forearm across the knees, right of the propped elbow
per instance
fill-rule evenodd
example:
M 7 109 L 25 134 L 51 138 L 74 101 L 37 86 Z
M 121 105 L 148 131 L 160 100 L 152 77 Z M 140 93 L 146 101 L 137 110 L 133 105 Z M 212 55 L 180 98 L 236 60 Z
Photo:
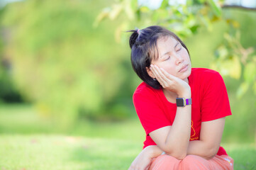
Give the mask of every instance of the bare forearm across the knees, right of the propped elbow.
M 204 159 L 211 159 L 218 152 L 218 147 L 219 146 L 210 147 L 202 140 L 193 140 L 189 142 L 187 154 L 194 154 L 203 157 Z

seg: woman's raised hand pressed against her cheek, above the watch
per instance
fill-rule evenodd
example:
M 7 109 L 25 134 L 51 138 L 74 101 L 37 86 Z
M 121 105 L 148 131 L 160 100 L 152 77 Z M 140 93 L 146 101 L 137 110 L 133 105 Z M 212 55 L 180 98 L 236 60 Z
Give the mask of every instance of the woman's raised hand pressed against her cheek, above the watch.
M 191 89 L 186 81 L 174 77 L 172 74 L 166 72 L 165 69 L 157 67 L 157 65 L 151 64 L 150 69 L 162 88 L 176 93 L 179 97 L 191 96 Z

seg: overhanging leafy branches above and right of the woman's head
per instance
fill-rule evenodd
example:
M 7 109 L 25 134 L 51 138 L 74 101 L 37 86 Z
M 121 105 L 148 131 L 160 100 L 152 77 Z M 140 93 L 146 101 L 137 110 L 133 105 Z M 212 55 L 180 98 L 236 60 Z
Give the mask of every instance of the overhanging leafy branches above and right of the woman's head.
M 243 79 L 237 91 L 238 98 L 246 93 L 249 86 L 253 86 L 252 91 L 256 95 L 255 42 L 250 47 L 243 47 L 240 40 L 240 23 L 230 15 L 232 12 L 221 8 L 223 3 L 223 0 L 188 0 L 182 4 L 178 1 L 163 0 L 160 8 L 151 9 L 147 4 L 138 5 L 138 0 L 120 0 L 102 10 L 95 20 L 95 25 L 98 26 L 106 18 L 115 20 L 125 15 L 128 19 L 123 20 L 119 27 L 130 28 L 134 23 L 139 23 L 138 26 L 143 28 L 148 25 L 160 25 L 186 39 L 196 35 L 200 28 L 207 28 L 210 33 L 214 33 L 213 24 L 224 21 L 229 29 L 223 33 L 223 42 L 216 47 L 216 60 L 211 63 L 211 69 L 216 69 L 223 76 Z M 255 13 L 252 15 L 255 16 Z

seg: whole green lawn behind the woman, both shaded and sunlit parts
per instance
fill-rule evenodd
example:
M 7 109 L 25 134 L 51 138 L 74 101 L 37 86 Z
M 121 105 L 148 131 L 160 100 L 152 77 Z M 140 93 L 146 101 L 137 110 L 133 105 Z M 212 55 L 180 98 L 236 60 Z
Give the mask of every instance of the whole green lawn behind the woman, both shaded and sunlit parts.
M 128 169 L 140 152 L 138 120 L 80 122 L 69 132 L 48 126 L 27 106 L 0 107 L 0 170 Z M 235 169 L 256 169 L 255 144 L 223 143 Z

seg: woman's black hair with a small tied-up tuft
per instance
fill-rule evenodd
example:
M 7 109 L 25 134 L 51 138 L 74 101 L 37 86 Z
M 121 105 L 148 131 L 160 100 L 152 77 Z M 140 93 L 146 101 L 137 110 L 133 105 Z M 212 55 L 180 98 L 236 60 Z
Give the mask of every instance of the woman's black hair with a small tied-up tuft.
M 130 61 L 133 70 L 146 84 L 152 86 L 154 89 L 160 89 L 160 83 L 152 79 L 147 72 L 147 68 L 150 68 L 152 60 L 158 58 L 157 40 L 170 36 L 179 41 L 187 50 L 188 54 L 189 50 L 177 35 L 161 26 L 150 26 L 142 30 L 128 30 L 128 32 L 132 32 L 129 43 L 131 49 Z

